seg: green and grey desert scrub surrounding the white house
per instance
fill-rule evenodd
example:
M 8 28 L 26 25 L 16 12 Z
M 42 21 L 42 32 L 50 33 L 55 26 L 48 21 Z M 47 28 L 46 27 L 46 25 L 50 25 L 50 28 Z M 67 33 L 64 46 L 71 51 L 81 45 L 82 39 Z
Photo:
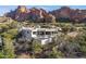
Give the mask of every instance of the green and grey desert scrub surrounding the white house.
M 0 25 L 0 36 L 2 41 L 0 47 L 1 59 L 86 57 L 85 24 L 56 23 L 56 26 L 62 28 L 61 35 L 53 38 L 52 42 L 44 46 L 39 40 L 35 39 L 33 39 L 30 42 L 26 40 L 17 41 L 16 38 L 19 35 L 19 28 L 25 24 L 29 25 L 29 23 L 20 23 L 16 21 Z M 34 25 L 34 23 L 30 23 L 30 25 Z M 52 24 L 50 23 L 50 26 Z

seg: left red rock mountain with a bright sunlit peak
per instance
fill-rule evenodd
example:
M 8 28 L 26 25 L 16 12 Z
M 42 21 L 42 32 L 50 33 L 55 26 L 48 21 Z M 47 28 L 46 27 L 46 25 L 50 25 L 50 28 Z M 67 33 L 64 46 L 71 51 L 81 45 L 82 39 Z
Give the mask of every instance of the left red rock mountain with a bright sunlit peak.
M 42 9 L 26 9 L 24 5 L 17 7 L 15 11 L 11 11 L 5 14 L 5 16 L 12 17 L 13 20 L 23 22 L 23 21 L 32 21 L 32 22 L 52 22 L 52 16 Z

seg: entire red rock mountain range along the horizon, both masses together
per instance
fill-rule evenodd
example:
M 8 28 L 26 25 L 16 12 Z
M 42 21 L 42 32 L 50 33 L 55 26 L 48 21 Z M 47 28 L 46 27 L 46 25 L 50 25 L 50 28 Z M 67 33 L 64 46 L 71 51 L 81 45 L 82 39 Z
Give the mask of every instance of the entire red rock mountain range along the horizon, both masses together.
M 16 20 L 19 22 L 86 22 L 86 10 L 74 10 L 70 9 L 69 7 L 62 7 L 61 9 L 46 12 L 46 10 L 44 9 L 27 9 L 25 5 L 20 5 L 14 11 L 7 13 L 5 16 Z

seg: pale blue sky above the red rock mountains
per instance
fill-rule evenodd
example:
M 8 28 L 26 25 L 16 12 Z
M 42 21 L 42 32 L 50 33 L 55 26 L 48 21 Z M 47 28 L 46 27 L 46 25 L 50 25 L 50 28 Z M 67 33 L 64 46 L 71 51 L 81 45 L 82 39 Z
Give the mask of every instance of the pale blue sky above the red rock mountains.
M 63 5 L 26 5 L 27 9 L 30 8 L 38 8 L 38 9 L 45 9 L 46 11 L 52 11 L 60 9 Z M 71 9 L 83 9 L 86 10 L 86 5 L 69 5 Z M 0 5 L 0 16 L 2 16 L 4 13 L 10 12 L 11 10 L 15 10 L 17 5 Z

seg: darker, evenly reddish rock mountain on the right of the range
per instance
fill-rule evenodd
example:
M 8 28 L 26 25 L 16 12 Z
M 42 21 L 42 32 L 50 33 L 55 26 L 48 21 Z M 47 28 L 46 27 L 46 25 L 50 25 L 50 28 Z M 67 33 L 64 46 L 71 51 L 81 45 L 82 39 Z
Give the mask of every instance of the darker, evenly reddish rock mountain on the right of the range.
M 50 12 L 56 16 L 56 20 L 66 20 L 70 22 L 86 22 L 86 10 L 70 9 L 69 7 L 62 7 L 59 10 Z

